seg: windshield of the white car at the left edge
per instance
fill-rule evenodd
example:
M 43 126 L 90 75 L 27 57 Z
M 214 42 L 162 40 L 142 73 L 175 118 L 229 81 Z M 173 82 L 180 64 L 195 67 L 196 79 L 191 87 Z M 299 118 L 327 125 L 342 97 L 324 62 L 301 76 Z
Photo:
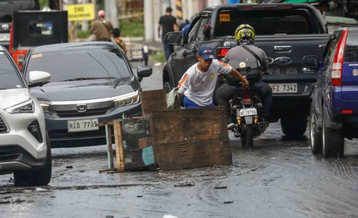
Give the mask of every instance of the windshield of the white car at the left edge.
M 23 88 L 23 84 L 4 52 L 0 52 L 0 90 Z

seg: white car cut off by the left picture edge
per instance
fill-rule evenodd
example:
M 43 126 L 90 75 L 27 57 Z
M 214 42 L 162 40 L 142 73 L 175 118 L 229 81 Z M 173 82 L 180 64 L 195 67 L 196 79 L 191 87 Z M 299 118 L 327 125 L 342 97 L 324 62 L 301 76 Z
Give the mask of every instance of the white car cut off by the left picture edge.
M 50 79 L 29 72 L 32 86 Z M 14 172 L 16 183 L 47 185 L 51 180 L 51 146 L 44 112 L 4 47 L 0 47 L 0 175 Z

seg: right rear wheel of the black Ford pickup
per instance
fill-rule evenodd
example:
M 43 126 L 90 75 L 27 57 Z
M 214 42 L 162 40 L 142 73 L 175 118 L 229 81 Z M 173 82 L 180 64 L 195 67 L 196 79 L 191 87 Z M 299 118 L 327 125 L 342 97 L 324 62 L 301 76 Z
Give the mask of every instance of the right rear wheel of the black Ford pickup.
M 306 132 L 306 115 L 285 114 L 281 117 L 280 121 L 282 132 L 289 139 L 300 139 Z

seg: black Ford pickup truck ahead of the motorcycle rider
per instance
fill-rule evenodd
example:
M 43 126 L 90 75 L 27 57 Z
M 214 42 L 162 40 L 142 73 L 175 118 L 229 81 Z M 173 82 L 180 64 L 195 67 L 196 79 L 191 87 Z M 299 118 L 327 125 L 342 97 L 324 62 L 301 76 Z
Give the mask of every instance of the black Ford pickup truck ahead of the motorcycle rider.
M 167 40 L 180 46 L 163 68 L 163 88 L 175 87 L 185 71 L 197 62 L 196 52 L 210 46 L 222 59 L 236 46 L 234 31 L 240 24 L 255 28 L 254 45 L 273 58 L 269 75 L 263 76 L 273 91 L 269 121 L 281 121 L 291 138 L 306 131 L 310 96 L 316 69 L 304 68 L 305 56 L 323 56 L 329 40 L 325 18 L 308 4 L 238 4 L 203 9 L 186 36 L 168 33 Z M 171 35 L 170 35 L 171 34 Z

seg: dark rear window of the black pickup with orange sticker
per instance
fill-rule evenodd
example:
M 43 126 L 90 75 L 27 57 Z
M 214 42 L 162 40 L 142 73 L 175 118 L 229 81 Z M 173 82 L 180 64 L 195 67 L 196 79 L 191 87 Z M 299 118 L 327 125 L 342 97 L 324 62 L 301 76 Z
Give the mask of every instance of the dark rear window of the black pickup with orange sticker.
M 216 21 L 215 36 L 234 35 L 240 24 L 249 24 L 256 35 L 314 33 L 304 9 L 288 11 L 222 11 Z

